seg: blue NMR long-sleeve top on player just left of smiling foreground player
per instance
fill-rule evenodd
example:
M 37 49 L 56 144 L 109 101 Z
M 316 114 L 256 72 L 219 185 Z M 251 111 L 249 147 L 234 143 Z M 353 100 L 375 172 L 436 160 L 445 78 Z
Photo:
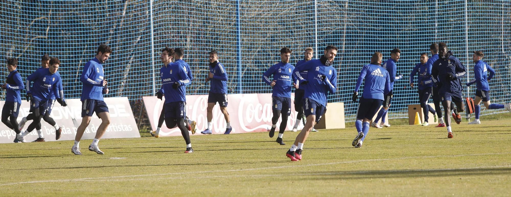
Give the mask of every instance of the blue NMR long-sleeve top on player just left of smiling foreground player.
M 280 97 L 291 97 L 292 80 L 291 75 L 293 73 L 294 66 L 290 63 L 278 62 L 275 65 L 268 68 L 263 73 L 263 82 L 270 85 L 272 81 L 276 81 L 273 86 L 272 96 Z M 273 80 L 270 77 L 273 75 Z

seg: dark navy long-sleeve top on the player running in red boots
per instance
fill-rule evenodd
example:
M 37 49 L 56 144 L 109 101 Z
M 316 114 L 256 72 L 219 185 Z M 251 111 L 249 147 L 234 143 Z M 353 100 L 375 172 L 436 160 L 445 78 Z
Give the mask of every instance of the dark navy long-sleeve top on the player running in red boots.
M 450 79 L 449 73 L 454 76 Z M 439 58 L 433 63 L 431 68 L 431 79 L 433 83 L 437 84 L 439 92 L 453 92 L 463 89 L 461 80 L 467 74 L 465 66 L 454 57 L 451 51 L 448 51 L 446 56 Z

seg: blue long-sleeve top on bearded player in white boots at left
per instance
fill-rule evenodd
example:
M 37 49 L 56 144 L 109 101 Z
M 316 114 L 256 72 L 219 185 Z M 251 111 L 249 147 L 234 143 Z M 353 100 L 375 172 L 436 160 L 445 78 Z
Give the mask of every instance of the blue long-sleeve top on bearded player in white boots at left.
M 81 101 L 94 99 L 104 101 L 103 99 L 103 81 L 105 80 L 103 65 L 97 59 L 91 59 L 83 66 L 80 81 L 82 82 Z

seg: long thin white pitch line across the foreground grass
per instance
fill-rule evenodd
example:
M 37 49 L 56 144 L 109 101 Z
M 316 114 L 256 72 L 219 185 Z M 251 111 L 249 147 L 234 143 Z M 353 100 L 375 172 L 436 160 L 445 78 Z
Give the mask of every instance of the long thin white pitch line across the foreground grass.
M 151 174 L 151 175 L 126 175 L 126 176 L 94 177 L 94 178 L 66 179 L 66 180 L 42 180 L 42 181 L 27 181 L 27 182 L 17 182 L 17 183 L 6 183 L 6 184 L 0 184 L 0 186 L 18 185 L 18 184 L 27 184 L 27 183 L 53 183 L 53 182 L 70 182 L 70 181 L 71 182 L 77 182 L 77 181 L 87 181 L 87 180 L 100 181 L 100 180 L 97 180 L 97 179 L 106 179 L 104 181 L 111 181 L 112 179 L 115 179 L 115 178 L 128 178 L 128 177 L 147 177 L 147 176 L 203 174 L 203 173 L 224 173 L 224 172 L 231 172 L 231 171 L 250 171 L 250 170 L 275 169 L 275 168 L 287 168 L 287 167 L 308 167 L 308 166 L 346 164 L 346 163 L 358 163 L 358 162 L 370 162 L 370 161 L 390 161 L 390 160 L 402 160 L 402 159 L 426 159 L 426 158 L 438 158 L 438 157 L 467 157 L 467 156 L 505 155 L 505 154 L 511 154 L 511 152 L 507 152 L 507 153 L 480 153 L 480 154 L 467 154 L 467 155 L 417 156 L 417 157 L 401 157 L 401 158 L 387 158 L 387 159 L 366 159 L 366 160 L 356 160 L 356 161 L 341 161 L 341 162 L 332 162 L 332 163 L 316 163 L 316 164 L 307 164 L 307 165 L 287 165 L 287 166 L 273 166 L 273 167 L 247 168 L 247 169 L 190 171 L 190 172 L 181 172 L 181 173 L 164 173 L 164 174 Z M 461 168 L 459 168 L 459 169 L 461 169 Z M 133 180 L 137 180 L 137 179 L 133 179 Z

